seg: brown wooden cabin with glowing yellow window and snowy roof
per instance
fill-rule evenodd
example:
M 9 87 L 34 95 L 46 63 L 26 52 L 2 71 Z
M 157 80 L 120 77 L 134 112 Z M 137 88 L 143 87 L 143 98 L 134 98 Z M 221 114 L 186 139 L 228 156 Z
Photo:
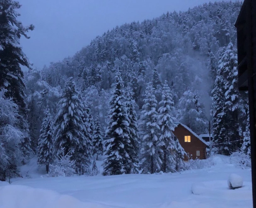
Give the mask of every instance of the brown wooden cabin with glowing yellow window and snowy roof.
M 190 128 L 182 123 L 176 123 L 174 135 L 179 139 L 181 147 L 184 148 L 191 159 L 206 159 L 206 148 L 208 147 L 208 143 L 200 138 Z M 184 160 L 188 160 L 188 158 L 186 157 Z

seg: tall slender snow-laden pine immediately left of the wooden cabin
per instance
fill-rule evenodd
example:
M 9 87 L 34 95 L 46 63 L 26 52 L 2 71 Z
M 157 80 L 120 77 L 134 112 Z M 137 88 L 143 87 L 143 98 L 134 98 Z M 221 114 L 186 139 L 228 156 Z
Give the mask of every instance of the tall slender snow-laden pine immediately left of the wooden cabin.
M 167 172 L 167 169 L 175 163 L 174 151 L 176 151 L 176 144 L 174 141 L 174 121 L 176 118 L 174 117 L 175 108 L 174 102 L 172 99 L 172 94 L 170 87 L 168 86 L 167 80 L 165 80 L 162 90 L 162 101 L 159 102 L 158 109 L 158 120 L 159 127 L 161 130 L 161 135 L 159 137 L 159 145 L 162 147 L 163 155 L 162 155 L 162 171 L 164 173 Z

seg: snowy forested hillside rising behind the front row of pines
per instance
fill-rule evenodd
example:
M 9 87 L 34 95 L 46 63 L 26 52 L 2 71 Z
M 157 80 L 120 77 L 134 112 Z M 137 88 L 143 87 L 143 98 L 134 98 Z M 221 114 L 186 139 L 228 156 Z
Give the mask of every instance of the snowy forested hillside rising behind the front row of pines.
M 119 69 L 124 84 L 131 83 L 139 109 L 143 104 L 146 83 L 153 81 L 154 87 L 160 91 L 157 84 L 162 85 L 166 79 L 174 91 L 174 104 L 180 121 L 195 131 L 204 131 L 210 116 L 209 95 L 216 77 L 217 62 L 223 47 L 229 42 L 236 44 L 234 23 L 241 5 L 242 2 L 209 3 L 187 12 L 167 12 L 156 19 L 116 26 L 97 36 L 73 57 L 51 63 L 41 73 L 31 71 L 26 78 L 29 109 L 40 110 L 41 106 L 36 103 L 41 101 L 41 97 L 50 95 L 51 98 L 47 99 L 55 113 L 54 96 L 58 97 L 65 80 L 72 76 L 89 103 L 93 116 L 99 113 L 104 129 L 109 89 L 114 82 L 115 71 Z M 154 79 L 154 68 L 159 74 L 159 83 Z M 40 80 L 47 86 L 42 86 Z M 58 88 L 54 88 L 57 94 L 52 92 L 53 87 Z M 49 92 L 46 93 L 45 89 Z M 161 92 L 157 93 L 160 101 Z M 196 112 L 190 110 L 192 106 Z M 30 112 L 31 117 L 37 114 Z M 200 126 L 194 124 L 196 117 L 200 119 L 197 121 Z

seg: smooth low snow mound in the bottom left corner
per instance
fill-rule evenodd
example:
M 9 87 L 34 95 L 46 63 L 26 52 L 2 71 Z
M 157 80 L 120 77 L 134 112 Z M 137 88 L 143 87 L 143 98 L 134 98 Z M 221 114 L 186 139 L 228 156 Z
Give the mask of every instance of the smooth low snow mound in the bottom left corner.
M 10 185 L 0 187 L 0 207 L 5 208 L 103 208 L 85 203 L 72 196 L 60 195 L 47 189 Z

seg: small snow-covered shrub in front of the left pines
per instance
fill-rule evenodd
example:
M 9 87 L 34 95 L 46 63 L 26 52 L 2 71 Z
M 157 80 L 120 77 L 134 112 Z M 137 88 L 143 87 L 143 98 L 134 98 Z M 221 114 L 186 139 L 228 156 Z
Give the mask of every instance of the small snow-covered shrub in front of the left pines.
M 50 164 L 48 176 L 72 176 L 75 173 L 75 161 L 71 160 L 69 153 L 65 154 L 65 148 L 60 147 L 61 154 L 53 164 Z

